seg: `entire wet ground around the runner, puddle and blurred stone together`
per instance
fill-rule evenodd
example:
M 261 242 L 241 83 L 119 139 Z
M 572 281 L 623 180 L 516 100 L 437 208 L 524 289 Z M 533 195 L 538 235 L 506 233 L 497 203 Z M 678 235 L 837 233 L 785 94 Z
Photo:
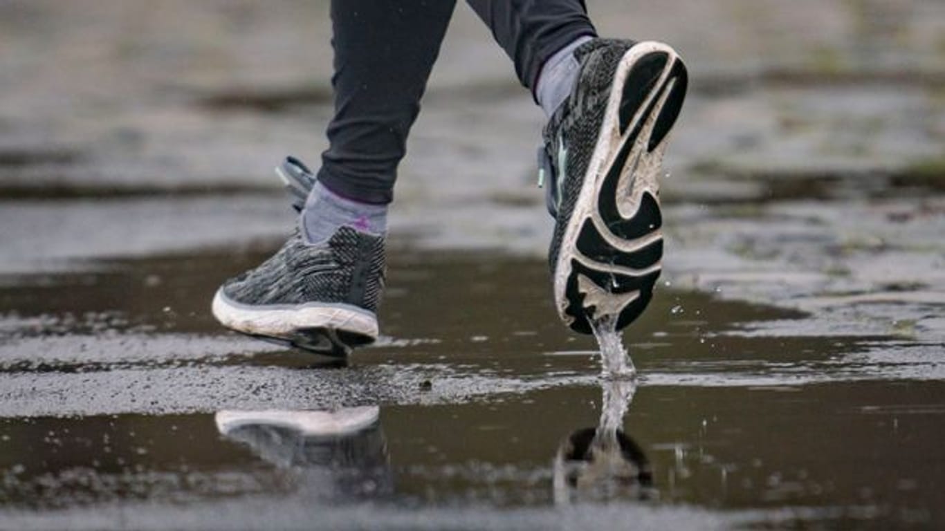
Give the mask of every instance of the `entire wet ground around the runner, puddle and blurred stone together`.
M 558 323 L 541 114 L 463 6 L 381 341 L 215 324 L 329 115 L 327 7 L 277 6 L 0 4 L 0 529 L 945 526 L 941 3 L 589 2 L 693 72 L 635 384 Z

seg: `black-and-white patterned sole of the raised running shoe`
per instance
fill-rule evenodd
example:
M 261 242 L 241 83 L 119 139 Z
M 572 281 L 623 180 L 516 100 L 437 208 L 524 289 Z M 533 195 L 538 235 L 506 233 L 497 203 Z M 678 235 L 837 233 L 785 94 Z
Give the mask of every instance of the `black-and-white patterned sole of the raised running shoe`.
M 591 163 L 555 271 L 558 313 L 576 332 L 589 318 L 639 317 L 662 272 L 658 174 L 688 76 L 673 48 L 644 42 L 617 65 Z

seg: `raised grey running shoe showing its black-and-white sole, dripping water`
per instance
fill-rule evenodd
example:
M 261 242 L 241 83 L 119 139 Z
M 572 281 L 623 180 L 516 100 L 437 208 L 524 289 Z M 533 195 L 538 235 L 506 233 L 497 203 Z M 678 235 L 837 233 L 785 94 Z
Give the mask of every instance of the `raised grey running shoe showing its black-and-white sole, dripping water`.
M 595 39 L 544 128 L 540 182 L 556 219 L 548 260 L 558 315 L 592 333 L 621 330 L 652 298 L 662 270 L 659 184 L 667 136 L 686 93 L 686 68 L 663 43 Z

